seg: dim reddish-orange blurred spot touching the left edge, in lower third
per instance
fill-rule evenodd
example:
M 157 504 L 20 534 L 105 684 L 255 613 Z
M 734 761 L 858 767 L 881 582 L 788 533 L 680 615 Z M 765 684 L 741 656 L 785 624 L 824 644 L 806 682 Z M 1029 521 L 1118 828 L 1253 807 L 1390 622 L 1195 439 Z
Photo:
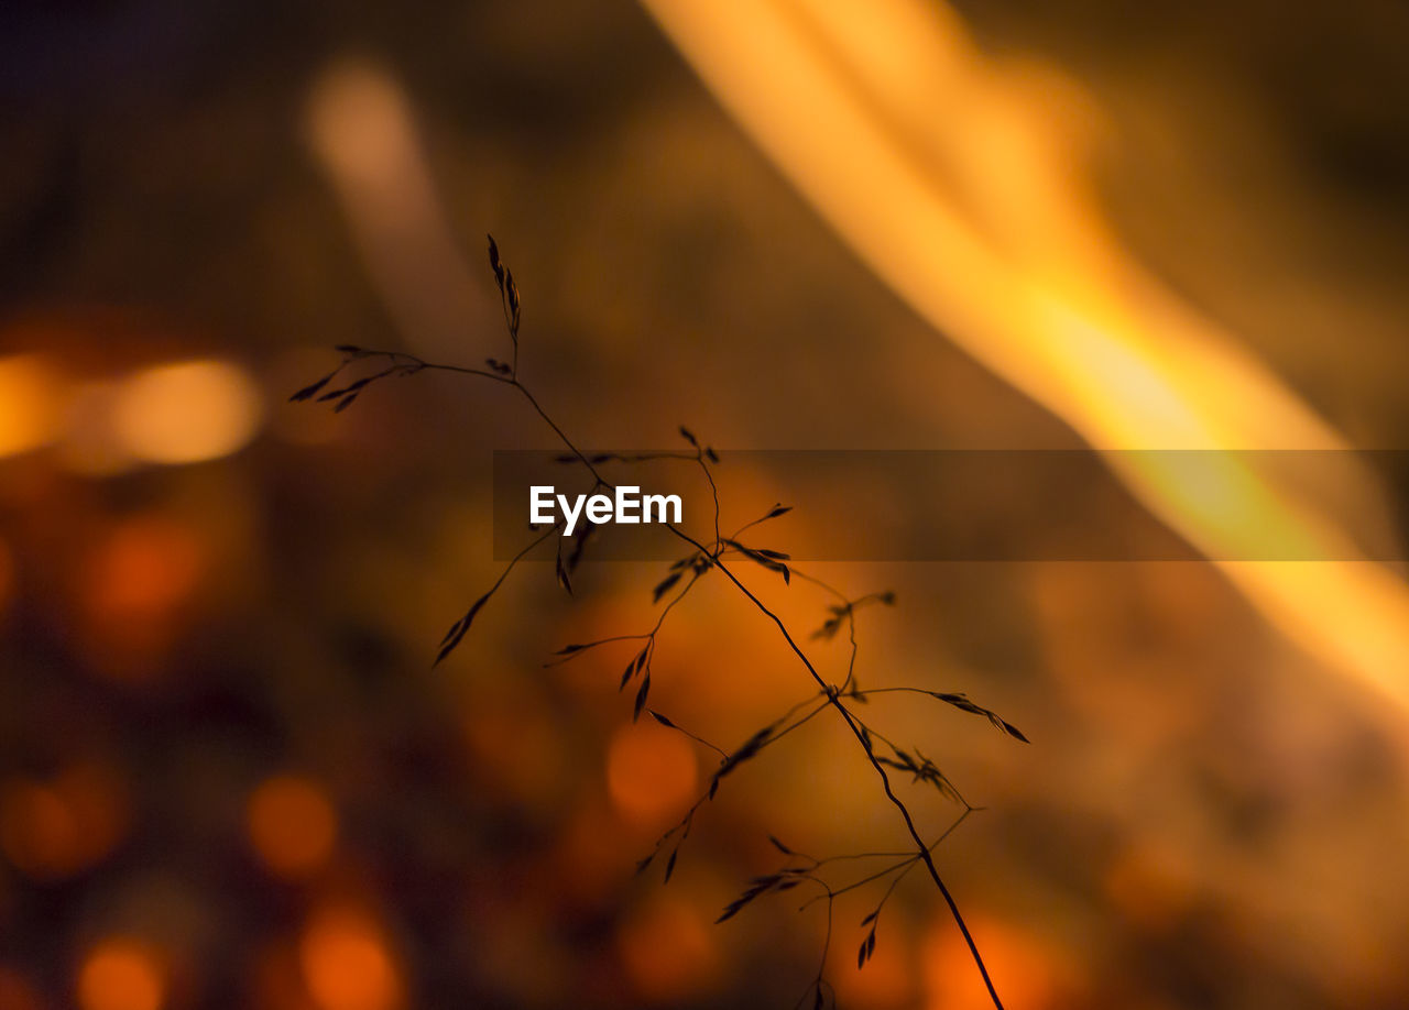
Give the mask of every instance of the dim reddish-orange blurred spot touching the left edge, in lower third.
M 77 765 L 44 782 L 14 779 L 0 790 L 0 849 L 35 879 L 87 869 L 125 830 L 121 783 L 99 766 Z

